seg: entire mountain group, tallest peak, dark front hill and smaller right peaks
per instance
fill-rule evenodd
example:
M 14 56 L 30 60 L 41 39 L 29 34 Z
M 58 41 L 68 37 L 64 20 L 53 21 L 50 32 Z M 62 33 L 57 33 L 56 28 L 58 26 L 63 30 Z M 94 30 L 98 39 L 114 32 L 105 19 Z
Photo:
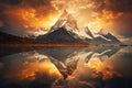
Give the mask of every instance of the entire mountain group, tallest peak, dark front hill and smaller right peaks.
M 120 44 L 121 42 L 111 33 L 107 33 L 101 29 L 98 33 L 91 32 L 88 26 L 78 29 L 77 21 L 66 10 L 43 35 L 36 37 L 43 42 L 85 42 L 90 44 Z

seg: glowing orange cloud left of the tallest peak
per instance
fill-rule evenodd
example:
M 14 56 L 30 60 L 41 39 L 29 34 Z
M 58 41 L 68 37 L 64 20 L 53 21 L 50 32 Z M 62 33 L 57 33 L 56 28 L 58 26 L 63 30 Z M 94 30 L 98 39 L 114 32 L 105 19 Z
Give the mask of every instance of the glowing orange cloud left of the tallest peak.
M 26 29 L 28 31 L 37 30 L 38 28 L 50 29 L 55 23 L 56 16 L 58 16 L 56 13 L 38 14 L 33 8 L 15 8 L 4 11 L 4 14 L 11 21 L 10 26 Z

